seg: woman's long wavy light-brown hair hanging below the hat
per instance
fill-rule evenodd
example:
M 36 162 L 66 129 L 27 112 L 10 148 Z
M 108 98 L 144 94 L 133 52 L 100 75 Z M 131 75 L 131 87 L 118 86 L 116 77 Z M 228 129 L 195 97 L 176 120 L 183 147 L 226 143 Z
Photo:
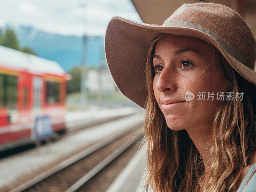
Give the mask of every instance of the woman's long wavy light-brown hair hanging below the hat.
M 256 151 L 255 85 L 238 74 L 213 46 L 209 50 L 215 68 L 230 81 L 229 92 L 244 92 L 243 100 L 226 100 L 218 106 L 212 124 L 211 167 L 203 184 L 205 169 L 202 157 L 186 130 L 167 127 L 153 91 L 152 67 L 157 37 L 148 50 L 146 78 L 148 97 L 144 108 L 147 145 L 147 169 L 144 189 L 154 192 L 235 192 L 239 175 Z M 209 142 L 210 143 L 210 142 Z

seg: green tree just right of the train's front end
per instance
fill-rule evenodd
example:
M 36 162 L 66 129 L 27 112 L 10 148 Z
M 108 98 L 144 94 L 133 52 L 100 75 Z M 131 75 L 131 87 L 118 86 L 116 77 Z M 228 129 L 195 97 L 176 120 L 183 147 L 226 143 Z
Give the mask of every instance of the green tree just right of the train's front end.
M 75 66 L 70 71 L 69 74 L 72 76 L 72 79 L 68 81 L 68 93 L 80 92 L 81 84 L 81 67 Z

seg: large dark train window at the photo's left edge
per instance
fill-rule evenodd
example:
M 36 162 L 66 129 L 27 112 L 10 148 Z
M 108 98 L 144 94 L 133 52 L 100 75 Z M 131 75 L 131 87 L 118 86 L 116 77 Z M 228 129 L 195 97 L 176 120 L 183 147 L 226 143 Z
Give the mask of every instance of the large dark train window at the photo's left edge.
M 0 74 L 0 107 L 17 108 L 17 76 Z

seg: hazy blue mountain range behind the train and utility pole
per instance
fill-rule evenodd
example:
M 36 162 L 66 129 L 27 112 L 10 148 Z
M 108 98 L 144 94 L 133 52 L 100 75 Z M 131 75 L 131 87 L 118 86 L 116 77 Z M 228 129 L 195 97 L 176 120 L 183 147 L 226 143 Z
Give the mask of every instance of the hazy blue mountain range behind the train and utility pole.
M 26 26 L 14 31 L 21 47 L 29 46 L 37 56 L 58 62 L 66 72 L 82 63 L 82 37 L 50 34 Z M 105 60 L 104 37 L 90 36 L 86 42 L 86 66 L 98 66 Z

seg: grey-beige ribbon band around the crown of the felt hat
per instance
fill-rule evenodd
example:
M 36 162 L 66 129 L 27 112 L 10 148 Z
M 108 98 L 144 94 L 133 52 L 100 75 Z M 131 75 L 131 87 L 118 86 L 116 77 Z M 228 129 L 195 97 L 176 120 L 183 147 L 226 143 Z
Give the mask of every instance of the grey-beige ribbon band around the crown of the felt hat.
M 207 34 L 208 36 L 212 37 L 212 39 L 214 39 L 218 44 L 220 44 L 220 46 L 226 52 L 228 52 L 232 57 L 234 57 L 236 60 L 243 63 L 246 67 L 252 69 L 252 65 L 249 59 L 244 55 L 244 53 L 240 52 L 235 46 L 233 46 L 230 42 L 228 42 L 222 36 L 218 35 L 217 33 L 213 32 L 208 28 L 205 28 L 202 25 L 198 25 L 190 21 L 169 21 L 164 23 L 162 26 L 163 27 L 184 27 L 184 28 L 190 28 L 190 29 L 201 31 Z

